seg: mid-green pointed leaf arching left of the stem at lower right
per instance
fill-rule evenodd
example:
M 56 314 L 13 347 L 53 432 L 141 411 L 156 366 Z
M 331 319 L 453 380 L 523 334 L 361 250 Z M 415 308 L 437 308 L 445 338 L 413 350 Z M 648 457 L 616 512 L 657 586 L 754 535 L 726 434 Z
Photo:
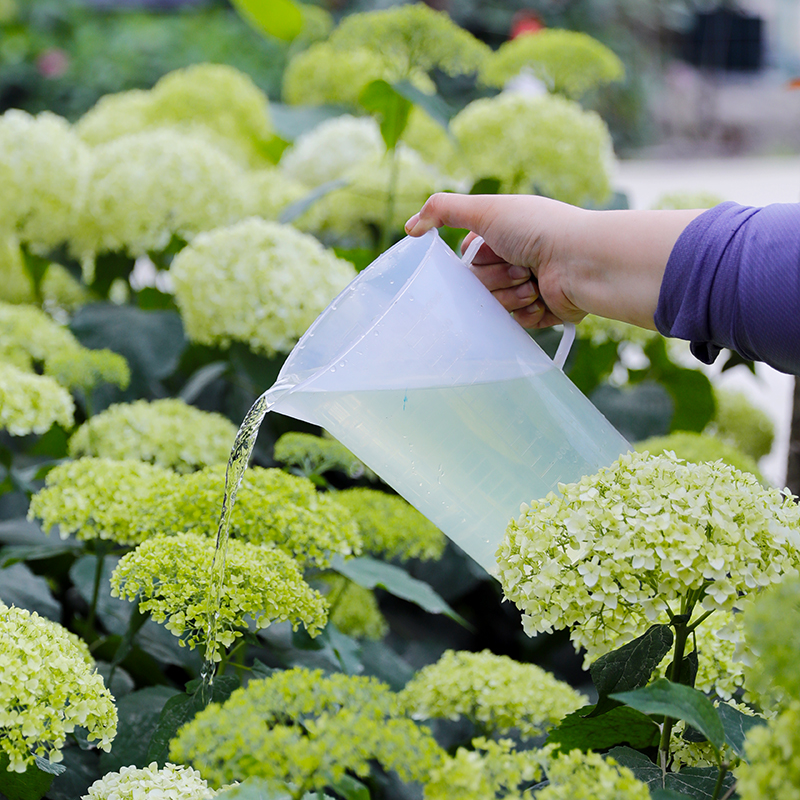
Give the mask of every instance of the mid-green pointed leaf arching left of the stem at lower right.
M 643 689 L 620 692 L 611 698 L 644 714 L 665 714 L 688 722 L 711 742 L 717 753 L 725 743 L 725 731 L 717 710 L 702 692 L 691 686 L 659 678 Z

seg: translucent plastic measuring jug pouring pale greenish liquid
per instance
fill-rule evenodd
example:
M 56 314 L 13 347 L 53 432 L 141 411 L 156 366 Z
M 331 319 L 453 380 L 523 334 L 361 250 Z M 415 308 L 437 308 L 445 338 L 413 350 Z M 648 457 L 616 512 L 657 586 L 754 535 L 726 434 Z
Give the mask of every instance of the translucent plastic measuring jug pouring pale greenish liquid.
M 271 410 L 328 430 L 493 574 L 523 502 L 629 449 L 561 371 L 569 344 L 556 366 L 433 230 L 328 306 Z

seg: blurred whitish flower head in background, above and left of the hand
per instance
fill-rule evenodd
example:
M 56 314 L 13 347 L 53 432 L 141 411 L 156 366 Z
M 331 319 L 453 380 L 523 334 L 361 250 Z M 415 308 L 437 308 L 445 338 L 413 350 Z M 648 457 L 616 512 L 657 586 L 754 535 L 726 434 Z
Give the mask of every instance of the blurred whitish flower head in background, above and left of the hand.
M 372 117 L 342 114 L 304 133 L 281 157 L 281 170 L 310 188 L 336 180 L 365 159 L 386 152 Z

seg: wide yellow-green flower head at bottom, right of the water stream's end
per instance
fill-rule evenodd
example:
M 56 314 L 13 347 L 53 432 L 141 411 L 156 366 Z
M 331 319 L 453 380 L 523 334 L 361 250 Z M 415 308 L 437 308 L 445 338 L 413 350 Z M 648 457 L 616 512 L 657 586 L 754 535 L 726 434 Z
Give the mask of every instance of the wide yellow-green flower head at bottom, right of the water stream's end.
M 404 781 L 425 780 L 444 753 L 430 733 L 403 717 L 397 697 L 375 678 L 296 668 L 237 689 L 178 731 L 170 758 L 208 780 L 258 777 L 292 796 L 335 784 L 370 762 Z

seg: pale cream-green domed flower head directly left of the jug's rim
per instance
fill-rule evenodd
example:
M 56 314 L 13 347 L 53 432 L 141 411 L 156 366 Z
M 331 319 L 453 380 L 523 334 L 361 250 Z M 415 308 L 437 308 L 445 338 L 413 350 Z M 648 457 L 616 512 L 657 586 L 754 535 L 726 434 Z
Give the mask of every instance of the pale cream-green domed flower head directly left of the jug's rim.
M 252 218 L 198 236 L 170 274 L 189 338 L 273 356 L 292 349 L 355 270 L 292 226 Z

